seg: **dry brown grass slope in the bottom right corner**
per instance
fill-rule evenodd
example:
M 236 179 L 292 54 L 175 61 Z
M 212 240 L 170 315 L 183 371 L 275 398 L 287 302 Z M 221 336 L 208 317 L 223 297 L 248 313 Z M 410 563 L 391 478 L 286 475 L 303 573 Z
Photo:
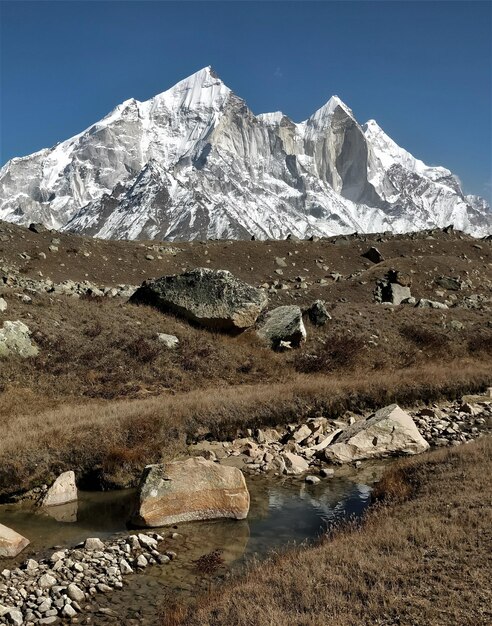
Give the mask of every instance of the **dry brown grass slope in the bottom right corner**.
M 492 440 L 390 469 L 391 506 L 252 567 L 163 626 L 478 626 L 492 621 Z

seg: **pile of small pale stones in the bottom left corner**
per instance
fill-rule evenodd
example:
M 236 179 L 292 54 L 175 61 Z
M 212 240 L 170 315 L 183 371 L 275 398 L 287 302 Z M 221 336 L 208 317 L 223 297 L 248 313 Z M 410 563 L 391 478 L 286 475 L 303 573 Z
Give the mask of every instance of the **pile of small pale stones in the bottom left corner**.
M 75 618 L 98 593 L 123 587 L 123 578 L 147 566 L 168 563 L 173 551 L 161 552 L 155 533 L 129 535 L 104 543 L 87 539 L 83 546 L 57 550 L 49 558 L 29 559 L 0 573 L 0 623 L 53 624 Z

